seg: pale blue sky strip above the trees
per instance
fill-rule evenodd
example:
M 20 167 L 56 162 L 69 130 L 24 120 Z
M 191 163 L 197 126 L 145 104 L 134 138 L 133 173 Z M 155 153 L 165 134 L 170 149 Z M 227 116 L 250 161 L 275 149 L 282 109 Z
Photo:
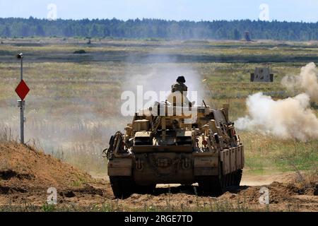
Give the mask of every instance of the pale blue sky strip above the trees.
M 57 6 L 57 18 L 163 18 L 170 20 L 257 20 L 261 4 L 270 20 L 318 21 L 318 0 L 0 0 L 0 18 L 47 18 L 47 6 Z

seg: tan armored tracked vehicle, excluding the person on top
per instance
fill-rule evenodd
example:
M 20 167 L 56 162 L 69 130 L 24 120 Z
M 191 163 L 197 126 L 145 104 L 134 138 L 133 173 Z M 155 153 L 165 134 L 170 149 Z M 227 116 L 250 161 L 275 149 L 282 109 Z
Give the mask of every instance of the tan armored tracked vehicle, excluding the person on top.
M 238 186 L 244 148 L 228 119 L 228 105 L 178 107 L 156 102 L 136 112 L 110 139 L 108 175 L 114 196 L 151 192 L 156 184 L 199 184 L 202 194 Z M 105 151 L 106 151 L 105 150 Z

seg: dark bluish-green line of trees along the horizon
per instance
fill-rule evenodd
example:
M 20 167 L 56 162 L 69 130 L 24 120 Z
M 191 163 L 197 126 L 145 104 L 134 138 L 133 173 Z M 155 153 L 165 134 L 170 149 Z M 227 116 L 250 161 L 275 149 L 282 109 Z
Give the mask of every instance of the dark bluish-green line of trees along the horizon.
M 261 20 L 83 19 L 47 20 L 0 18 L 1 37 L 114 37 L 177 40 L 241 40 L 245 32 L 254 40 L 318 40 L 318 22 Z

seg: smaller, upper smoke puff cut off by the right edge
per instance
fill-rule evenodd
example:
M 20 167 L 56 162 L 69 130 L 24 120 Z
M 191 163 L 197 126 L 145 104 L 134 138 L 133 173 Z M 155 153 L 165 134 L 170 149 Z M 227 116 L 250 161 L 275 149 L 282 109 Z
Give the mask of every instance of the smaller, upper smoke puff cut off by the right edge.
M 318 102 L 318 69 L 314 63 L 307 64 L 300 70 L 299 76 L 285 76 L 281 83 L 288 90 L 301 90 Z

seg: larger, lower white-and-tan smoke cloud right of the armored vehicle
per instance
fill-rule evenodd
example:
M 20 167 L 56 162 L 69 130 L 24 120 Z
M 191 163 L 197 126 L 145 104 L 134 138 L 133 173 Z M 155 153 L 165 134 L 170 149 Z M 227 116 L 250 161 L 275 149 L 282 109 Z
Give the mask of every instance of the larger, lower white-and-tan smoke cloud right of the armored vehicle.
M 283 139 L 318 138 L 318 119 L 310 109 L 310 97 L 302 93 L 284 100 L 256 93 L 247 98 L 249 115 L 235 121 L 237 129 L 259 130 Z

